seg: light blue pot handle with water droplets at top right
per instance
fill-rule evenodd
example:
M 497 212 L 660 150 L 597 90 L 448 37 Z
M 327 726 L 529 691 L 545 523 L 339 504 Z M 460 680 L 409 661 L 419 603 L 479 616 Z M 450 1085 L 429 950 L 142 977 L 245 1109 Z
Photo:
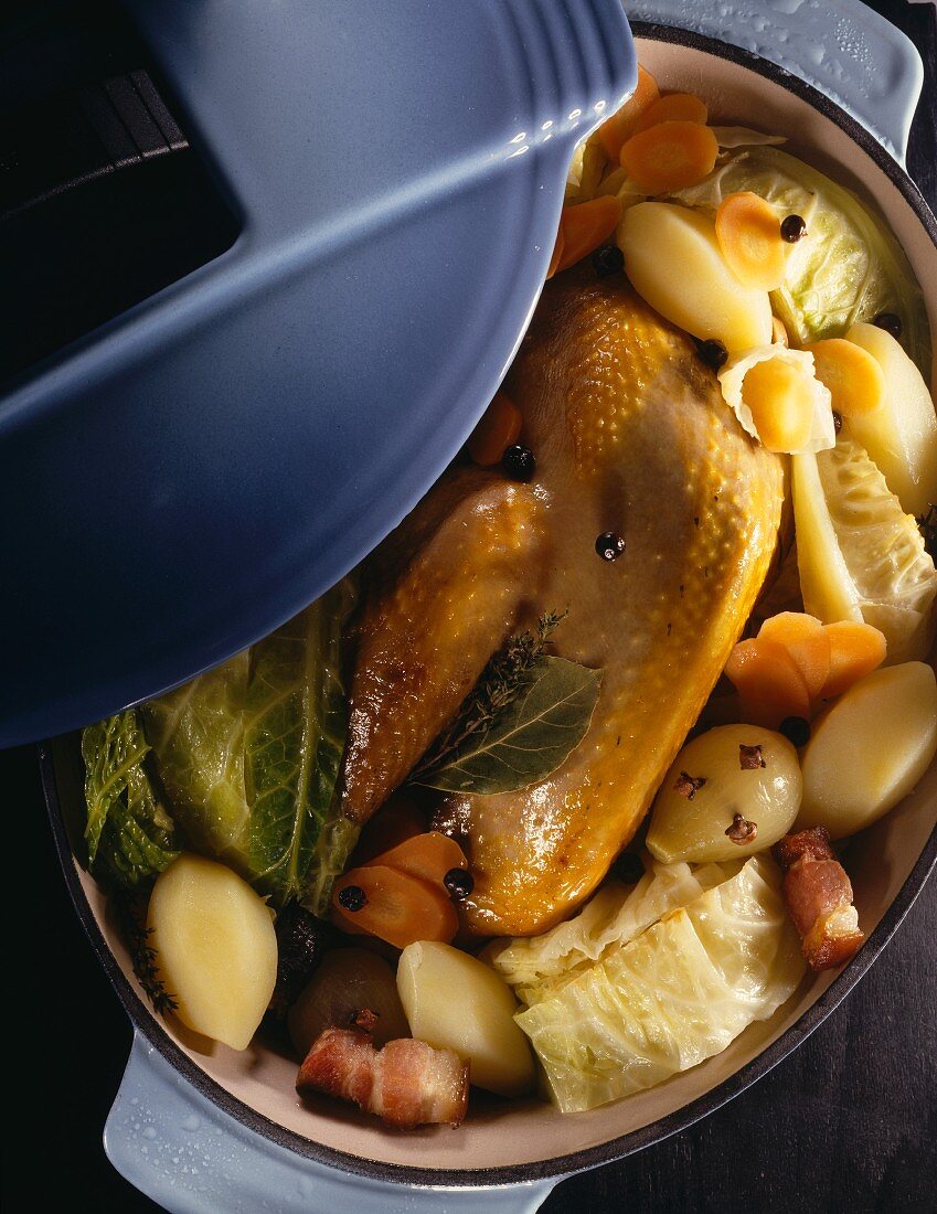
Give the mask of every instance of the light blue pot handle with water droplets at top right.
M 771 59 L 852 114 L 904 165 L 924 66 L 914 44 L 861 0 L 625 0 L 625 8 L 632 22 L 691 29 Z

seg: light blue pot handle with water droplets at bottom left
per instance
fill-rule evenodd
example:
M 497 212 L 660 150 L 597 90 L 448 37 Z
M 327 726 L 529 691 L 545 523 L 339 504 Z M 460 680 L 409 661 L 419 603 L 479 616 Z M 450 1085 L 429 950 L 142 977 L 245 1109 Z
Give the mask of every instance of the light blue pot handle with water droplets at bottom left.
M 104 1127 L 117 1170 L 170 1214 L 534 1214 L 557 1179 L 482 1189 L 411 1187 L 307 1159 L 201 1095 L 138 1032 Z

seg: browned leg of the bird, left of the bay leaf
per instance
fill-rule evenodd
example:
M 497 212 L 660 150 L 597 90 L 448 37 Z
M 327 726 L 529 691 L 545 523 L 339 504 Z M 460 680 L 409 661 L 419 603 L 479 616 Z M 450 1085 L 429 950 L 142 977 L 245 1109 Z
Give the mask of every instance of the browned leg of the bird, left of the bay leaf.
M 407 778 L 517 626 L 545 535 L 529 486 L 477 469 L 439 482 L 375 554 L 345 751 L 345 813 L 364 822 Z

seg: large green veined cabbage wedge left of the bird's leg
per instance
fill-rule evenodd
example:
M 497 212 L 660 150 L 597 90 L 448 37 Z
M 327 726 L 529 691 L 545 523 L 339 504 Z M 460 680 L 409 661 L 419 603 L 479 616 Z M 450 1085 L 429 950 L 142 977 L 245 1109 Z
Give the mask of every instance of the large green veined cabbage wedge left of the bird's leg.
M 345 747 L 342 583 L 250 649 L 143 707 L 189 844 L 282 907 L 328 906 L 357 832 L 339 817 Z

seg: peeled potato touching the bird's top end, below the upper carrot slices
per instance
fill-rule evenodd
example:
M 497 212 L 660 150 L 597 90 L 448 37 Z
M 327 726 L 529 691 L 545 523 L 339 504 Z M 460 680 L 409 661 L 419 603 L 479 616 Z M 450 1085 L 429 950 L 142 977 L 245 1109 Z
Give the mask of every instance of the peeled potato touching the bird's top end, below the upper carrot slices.
M 672 324 L 694 337 L 715 337 L 729 354 L 771 345 L 768 293 L 736 278 L 706 215 L 672 203 L 638 203 L 625 211 L 618 243 L 631 285 Z

